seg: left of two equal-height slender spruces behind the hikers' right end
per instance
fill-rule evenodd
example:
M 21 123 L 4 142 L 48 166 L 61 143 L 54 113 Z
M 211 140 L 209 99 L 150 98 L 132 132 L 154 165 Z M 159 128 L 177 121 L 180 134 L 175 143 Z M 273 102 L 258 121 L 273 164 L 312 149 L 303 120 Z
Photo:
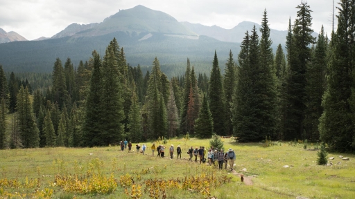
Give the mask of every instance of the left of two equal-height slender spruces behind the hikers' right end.
M 214 52 L 214 61 L 209 79 L 209 106 L 214 120 L 214 131 L 218 135 L 225 135 L 225 106 L 223 102 L 223 85 L 218 66 L 216 51 Z

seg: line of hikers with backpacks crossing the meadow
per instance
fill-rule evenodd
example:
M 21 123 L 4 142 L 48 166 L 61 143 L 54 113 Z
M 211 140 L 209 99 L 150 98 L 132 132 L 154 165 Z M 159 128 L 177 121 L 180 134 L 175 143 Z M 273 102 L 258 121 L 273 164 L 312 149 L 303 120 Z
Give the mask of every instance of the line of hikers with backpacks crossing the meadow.
M 121 151 L 123 151 L 124 149 L 127 148 L 128 146 L 128 153 L 131 152 L 132 150 L 132 143 L 131 142 L 127 142 L 127 140 L 125 141 L 121 141 L 120 143 L 121 146 Z M 146 150 L 147 150 L 147 145 L 143 144 L 143 146 L 141 146 L 140 144 L 136 145 L 136 149 L 137 152 L 136 153 L 142 153 L 143 155 L 145 154 Z M 166 153 L 168 153 L 168 156 L 170 156 L 171 159 L 173 159 L 173 154 L 175 151 L 174 145 L 171 144 L 171 146 L 169 147 L 169 149 L 166 149 L 166 147 L 164 145 L 159 145 L 159 146 L 155 146 L 155 143 L 153 143 L 153 145 L 150 147 L 150 149 L 152 150 L 152 155 L 154 156 L 154 152 L 157 151 L 157 156 L 164 158 L 164 155 Z M 180 147 L 180 145 L 178 145 L 178 147 L 176 148 L 176 152 L 178 153 L 178 159 L 180 157 L 181 159 L 181 153 L 182 153 L 182 149 Z M 195 156 L 195 162 L 198 162 L 198 158 L 200 161 L 200 164 L 205 164 L 205 162 L 207 162 L 209 165 L 211 164 L 216 164 L 218 163 L 218 169 L 223 169 L 223 164 L 225 164 L 225 169 L 227 169 L 227 164 L 229 162 L 230 164 L 230 170 L 233 170 L 233 166 L 234 166 L 234 160 L 236 160 L 236 154 L 234 153 L 234 151 L 232 149 L 229 149 L 227 152 L 224 152 L 223 149 L 214 149 L 214 146 L 211 146 L 211 149 L 206 150 L 205 146 L 200 146 L 200 149 L 198 149 L 198 147 L 196 146 L 195 149 L 193 149 L 193 146 L 191 146 L 191 148 L 187 151 L 187 154 L 189 155 L 189 160 L 190 162 L 192 162 L 193 159 L 193 155 Z M 205 159 L 205 155 L 207 155 L 207 161 Z

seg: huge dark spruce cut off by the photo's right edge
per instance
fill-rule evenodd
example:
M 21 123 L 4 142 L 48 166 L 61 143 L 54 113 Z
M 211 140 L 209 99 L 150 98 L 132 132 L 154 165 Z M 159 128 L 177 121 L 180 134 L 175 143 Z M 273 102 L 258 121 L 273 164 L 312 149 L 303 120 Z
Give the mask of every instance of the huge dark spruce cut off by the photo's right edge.
M 323 95 L 324 112 L 320 117 L 320 137 L 337 151 L 354 151 L 354 1 L 339 3 L 338 28 L 331 37 L 327 90 Z

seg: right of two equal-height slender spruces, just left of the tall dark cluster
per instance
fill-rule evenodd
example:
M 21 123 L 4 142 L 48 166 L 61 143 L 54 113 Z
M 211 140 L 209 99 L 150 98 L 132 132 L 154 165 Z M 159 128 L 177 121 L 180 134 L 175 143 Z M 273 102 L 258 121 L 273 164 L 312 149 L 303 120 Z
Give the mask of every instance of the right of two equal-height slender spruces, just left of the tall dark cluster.
M 201 75 L 202 76 L 202 75 Z M 230 50 L 230 57 L 225 64 L 225 78 L 224 78 L 224 94 L 225 94 L 225 132 L 226 135 L 233 134 L 232 124 L 232 104 L 233 92 L 236 87 L 236 64 L 233 60 L 232 50 Z

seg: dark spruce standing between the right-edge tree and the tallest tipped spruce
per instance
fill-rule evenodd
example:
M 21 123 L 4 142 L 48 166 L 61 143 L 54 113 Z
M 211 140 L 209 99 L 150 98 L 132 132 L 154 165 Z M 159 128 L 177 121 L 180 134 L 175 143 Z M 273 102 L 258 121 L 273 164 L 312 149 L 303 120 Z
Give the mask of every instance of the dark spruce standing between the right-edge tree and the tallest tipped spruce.
M 318 141 L 319 118 L 322 115 L 323 108 L 322 95 L 326 85 L 326 68 L 327 68 L 327 41 L 325 40 L 323 26 L 318 35 L 317 46 L 313 53 L 312 61 L 307 64 L 306 72 L 306 108 L 304 110 L 304 133 L 303 138 L 311 141 Z

